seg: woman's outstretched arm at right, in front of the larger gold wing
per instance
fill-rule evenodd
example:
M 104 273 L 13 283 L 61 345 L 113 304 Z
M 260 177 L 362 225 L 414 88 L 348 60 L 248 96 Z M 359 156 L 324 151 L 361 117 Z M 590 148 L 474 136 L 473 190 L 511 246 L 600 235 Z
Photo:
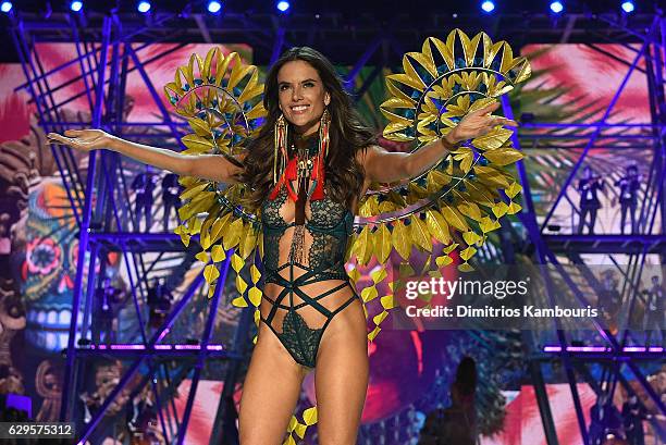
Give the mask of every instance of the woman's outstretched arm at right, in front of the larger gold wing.
M 444 158 L 459 141 L 483 136 L 496 125 L 517 125 L 506 118 L 491 115 L 497 108 L 499 102 L 494 102 L 467 114 L 446 136 L 414 153 L 388 152 L 381 147 L 369 147 L 360 160 L 366 171 L 366 180 L 392 183 L 418 176 Z

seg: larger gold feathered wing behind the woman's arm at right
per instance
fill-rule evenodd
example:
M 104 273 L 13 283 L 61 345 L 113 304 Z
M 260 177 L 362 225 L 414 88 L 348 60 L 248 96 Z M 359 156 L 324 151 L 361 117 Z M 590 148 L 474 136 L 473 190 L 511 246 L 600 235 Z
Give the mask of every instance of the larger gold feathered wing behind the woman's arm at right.
M 402 73 L 386 77 L 390 98 L 381 106 L 388 120 L 384 137 L 410 143 L 416 151 L 445 136 L 467 113 L 495 101 L 530 73 L 526 58 L 515 58 L 506 41 L 493 42 L 485 33 L 470 38 L 454 29 L 446 41 L 430 37 L 420 52 L 404 55 Z M 514 199 L 521 187 L 509 169 L 522 153 L 513 147 L 511 135 L 498 125 L 451 151 L 422 175 L 398 184 L 375 184 L 363 197 L 348 258 L 356 265 L 371 260 L 380 265 L 372 274 L 373 284 L 361 293 L 363 301 L 378 298 L 377 286 L 391 281 L 391 295 L 380 299 L 369 339 L 374 339 L 387 311 L 396 305 L 392 294 L 397 280 L 386 272 L 393 250 L 405 262 L 412 249 L 427 252 L 424 271 L 431 264 L 452 263 L 452 254 L 457 251 L 462 260 L 459 270 L 469 271 L 469 259 L 486 234 L 499 227 L 498 219 L 520 211 Z M 435 258 L 434 242 L 443 245 L 442 255 Z M 403 265 L 398 270 L 414 273 Z M 356 281 L 360 273 L 353 269 L 349 276 Z

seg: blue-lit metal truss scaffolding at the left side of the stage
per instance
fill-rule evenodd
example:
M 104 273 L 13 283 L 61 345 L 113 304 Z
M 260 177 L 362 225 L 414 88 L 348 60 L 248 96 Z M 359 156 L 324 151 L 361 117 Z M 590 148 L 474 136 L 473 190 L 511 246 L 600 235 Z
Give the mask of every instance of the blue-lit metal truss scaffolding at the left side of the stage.
M 174 16 L 159 20 L 166 25 Z M 14 17 L 12 25 L 12 37 L 26 77 L 26 83 L 21 87 L 29 92 L 45 132 L 62 133 L 67 128 L 98 127 L 116 135 L 135 139 L 139 137 L 141 140 L 180 150 L 180 136 L 185 123 L 177 121 L 166 110 L 147 75 L 149 64 L 159 59 L 159 55 L 152 59 L 141 55 L 144 49 L 160 42 L 160 36 L 151 35 L 148 27 L 126 33 L 118 17 L 106 16 L 98 29 L 100 34 L 90 39 L 95 33 L 90 33 L 83 22 L 72 20 L 66 26 L 60 27 L 58 33 L 64 41 L 76 47 L 77 57 L 47 72 L 41 62 L 44 54 L 37 44 L 53 40 L 45 39 L 45 36 L 40 35 L 40 26 L 20 17 Z M 140 41 L 140 45 L 133 46 L 136 41 Z M 62 92 L 57 92 L 73 81 L 63 84 L 58 81 L 57 74 L 71 65 L 79 69 L 81 75 L 74 82 L 79 82 L 84 88 L 63 98 Z M 160 111 L 160 122 L 126 122 L 125 85 L 127 75 L 133 71 L 138 72 L 145 88 L 150 91 L 156 108 Z M 79 97 L 87 100 L 89 119 L 84 116 L 65 120 L 65 108 Z M 180 317 L 187 310 L 193 310 L 193 300 L 203 295 L 206 301 L 202 272 L 189 282 L 184 282 L 185 273 L 195 262 L 194 256 L 198 252 L 196 239 L 193 239 L 189 248 L 184 247 L 178 237 L 171 233 L 161 233 L 161 219 L 145 232 L 139 231 L 136 197 L 130 184 L 132 177 L 140 173 L 136 163 L 112 151 L 91 151 L 87 158 L 86 172 L 77 165 L 70 148 L 52 146 L 52 154 L 79 233 L 61 419 L 77 422 L 78 441 L 95 442 L 111 434 L 112 422 L 106 417 L 106 412 L 114 400 L 118 401 L 116 397 L 131 390 L 132 400 L 148 385 L 157 406 L 161 434 L 168 443 L 183 444 L 205 366 L 221 360 L 226 362 L 223 368 L 226 370 L 226 378 L 233 381 L 225 380 L 226 398 L 220 401 L 219 417 L 224 420 L 224 430 L 232 431 L 235 429 L 235 411 L 227 412 L 234 410 L 234 405 L 229 404 L 233 395 L 230 391 L 234 388 L 239 364 L 246 360 L 245 350 L 250 327 L 247 316 L 242 317 L 239 327 L 229 344 L 212 343 L 215 316 L 222 307 L 222 298 L 226 297 L 222 295 L 225 286 L 217 286 L 210 301 L 207 301 L 202 332 L 195 334 L 199 336 L 187 342 L 173 338 L 170 331 Z M 161 207 L 158 197 L 152 208 Z M 99 314 L 95 311 L 96 291 L 104 284 L 110 254 L 121 258 L 131 293 L 126 309 L 136 320 L 136 332 L 115 344 L 96 343 L 90 339 L 91 332 L 100 322 L 97 319 Z M 231 258 L 231 255 L 227 258 Z M 225 282 L 227 270 L 229 260 L 220 267 L 222 283 Z M 173 292 L 175 301 L 157 326 L 149 323 L 147 310 L 149 287 L 156 279 L 163 280 L 171 289 L 187 284 L 180 295 Z M 91 418 L 84 419 L 79 394 L 85 391 L 85 384 L 89 381 L 89 372 L 86 371 L 90 368 L 87 366 L 100 359 L 122 360 L 124 374 Z M 143 376 L 138 378 L 139 375 Z M 187 378 L 192 380 L 190 391 L 184 415 L 178 417 L 173 398 L 177 385 Z M 218 443 L 221 433 L 222 431 L 218 436 L 211 437 L 211 443 Z

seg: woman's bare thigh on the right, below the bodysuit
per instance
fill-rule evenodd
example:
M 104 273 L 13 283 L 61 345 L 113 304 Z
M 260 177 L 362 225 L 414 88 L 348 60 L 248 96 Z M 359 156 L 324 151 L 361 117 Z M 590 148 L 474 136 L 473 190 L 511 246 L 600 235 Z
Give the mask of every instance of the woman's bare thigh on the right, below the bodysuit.
M 354 445 L 368 390 L 368 332 L 359 300 L 324 331 L 314 388 L 320 445 Z

